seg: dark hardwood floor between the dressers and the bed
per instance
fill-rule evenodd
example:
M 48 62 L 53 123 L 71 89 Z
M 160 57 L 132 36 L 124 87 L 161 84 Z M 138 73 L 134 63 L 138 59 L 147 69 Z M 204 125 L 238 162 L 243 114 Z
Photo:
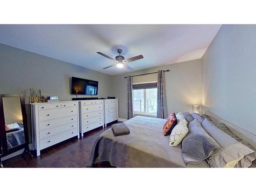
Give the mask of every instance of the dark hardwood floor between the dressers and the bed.
M 110 129 L 111 124 L 104 130 Z M 80 139 L 71 138 L 48 147 L 42 150 L 38 157 L 35 154 L 32 158 L 29 154 L 18 155 L 3 161 L 3 165 L 4 167 L 85 167 L 94 141 L 102 132 L 102 127 L 99 127 L 84 133 Z M 110 167 L 110 165 L 106 163 L 95 167 Z

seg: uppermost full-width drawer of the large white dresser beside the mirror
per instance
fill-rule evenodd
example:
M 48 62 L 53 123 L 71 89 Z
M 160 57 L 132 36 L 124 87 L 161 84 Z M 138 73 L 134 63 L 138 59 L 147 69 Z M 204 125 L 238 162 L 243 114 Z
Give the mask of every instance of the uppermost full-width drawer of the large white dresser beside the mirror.
M 39 111 L 39 121 L 68 117 L 77 114 L 77 106 L 72 108 L 60 108 L 54 110 Z

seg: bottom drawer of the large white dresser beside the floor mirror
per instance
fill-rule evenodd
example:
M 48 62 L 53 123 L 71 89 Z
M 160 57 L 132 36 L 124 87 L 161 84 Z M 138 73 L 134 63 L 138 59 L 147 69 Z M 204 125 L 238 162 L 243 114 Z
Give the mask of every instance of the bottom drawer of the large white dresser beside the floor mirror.
M 40 140 L 40 150 L 43 148 L 49 147 L 51 145 L 57 144 L 61 141 L 65 141 L 71 137 L 77 136 L 77 129 L 69 130 L 57 135 L 53 135 L 51 137 L 48 137 L 46 139 Z

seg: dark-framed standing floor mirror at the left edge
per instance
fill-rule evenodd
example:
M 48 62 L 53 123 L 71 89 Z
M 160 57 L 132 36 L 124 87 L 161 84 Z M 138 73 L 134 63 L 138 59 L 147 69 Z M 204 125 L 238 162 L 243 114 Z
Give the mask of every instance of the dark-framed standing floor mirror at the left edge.
M 0 161 L 23 149 L 31 155 L 24 95 L 0 95 L 0 139 Z

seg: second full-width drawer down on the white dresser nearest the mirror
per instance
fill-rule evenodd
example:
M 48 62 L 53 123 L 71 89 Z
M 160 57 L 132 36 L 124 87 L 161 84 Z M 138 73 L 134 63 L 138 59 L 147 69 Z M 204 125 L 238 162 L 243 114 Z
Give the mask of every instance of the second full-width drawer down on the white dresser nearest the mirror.
M 39 123 L 39 131 L 43 131 L 46 129 L 52 129 L 55 126 L 65 125 L 68 123 L 77 122 L 77 116 L 64 117 L 61 119 L 54 119 L 50 121 L 43 121 Z

